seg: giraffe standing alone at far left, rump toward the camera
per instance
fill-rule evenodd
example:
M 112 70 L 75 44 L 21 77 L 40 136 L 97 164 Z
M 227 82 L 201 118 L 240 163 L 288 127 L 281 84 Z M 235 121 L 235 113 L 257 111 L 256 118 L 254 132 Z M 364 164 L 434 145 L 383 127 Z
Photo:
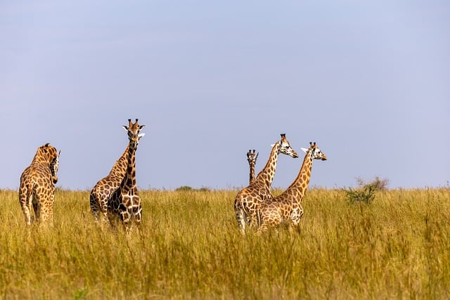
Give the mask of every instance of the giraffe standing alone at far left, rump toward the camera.
M 58 165 L 58 151 L 46 143 L 37 148 L 30 166 L 20 176 L 19 203 L 27 225 L 31 225 L 34 219 L 53 224 Z M 32 205 L 35 217 L 32 216 Z

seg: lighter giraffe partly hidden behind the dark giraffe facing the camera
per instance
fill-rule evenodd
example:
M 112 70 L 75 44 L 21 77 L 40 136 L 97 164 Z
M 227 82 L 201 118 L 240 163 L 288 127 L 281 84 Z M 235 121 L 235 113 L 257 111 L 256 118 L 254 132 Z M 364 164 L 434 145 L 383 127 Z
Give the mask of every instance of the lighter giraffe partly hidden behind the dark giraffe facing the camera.
M 120 183 L 125 176 L 125 172 L 127 171 L 128 151 L 129 145 L 127 145 L 122 156 L 117 159 L 108 176 L 98 181 L 91 190 L 89 203 L 91 205 L 91 213 L 96 222 L 103 219 L 103 223 L 109 223 L 108 199 L 113 195 L 114 191 L 119 188 Z

